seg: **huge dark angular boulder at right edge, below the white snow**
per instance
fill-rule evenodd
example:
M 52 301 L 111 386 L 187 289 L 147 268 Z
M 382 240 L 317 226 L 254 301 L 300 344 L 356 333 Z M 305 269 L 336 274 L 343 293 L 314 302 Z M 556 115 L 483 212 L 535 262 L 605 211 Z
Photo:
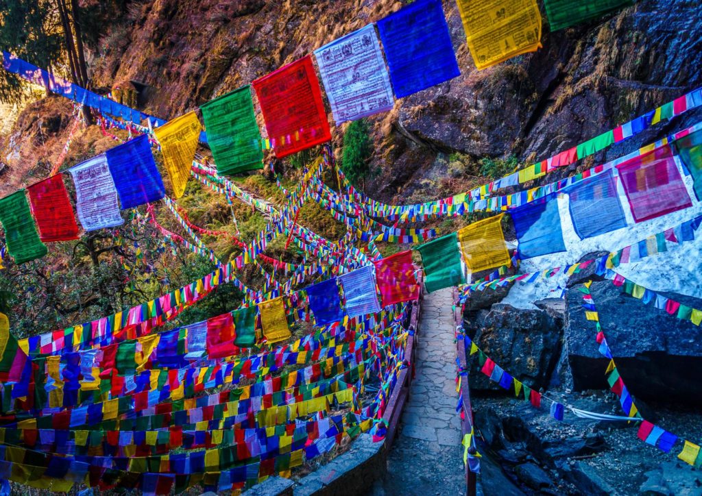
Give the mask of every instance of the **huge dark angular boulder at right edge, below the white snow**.
M 617 367 L 629 391 L 644 399 L 702 404 L 702 329 L 644 305 L 610 281 L 592 283 L 592 298 Z M 693 308 L 702 300 L 663 293 Z M 598 351 L 595 326 L 585 319 L 583 293 L 566 295 L 565 353 L 576 390 L 607 387 L 607 358 Z

